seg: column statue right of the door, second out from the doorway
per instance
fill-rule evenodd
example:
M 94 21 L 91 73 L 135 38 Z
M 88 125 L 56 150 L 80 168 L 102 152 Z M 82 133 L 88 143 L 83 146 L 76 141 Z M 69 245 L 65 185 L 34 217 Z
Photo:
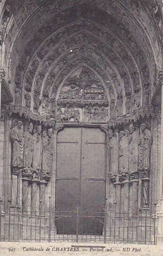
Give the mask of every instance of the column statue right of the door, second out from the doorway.
M 119 174 L 122 179 L 128 178 L 128 130 L 119 133 Z

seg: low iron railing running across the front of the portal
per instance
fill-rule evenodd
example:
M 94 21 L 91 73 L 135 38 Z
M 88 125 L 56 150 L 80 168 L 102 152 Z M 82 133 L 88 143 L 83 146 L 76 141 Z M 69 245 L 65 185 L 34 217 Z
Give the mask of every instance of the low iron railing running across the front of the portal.
M 156 209 L 156 206 L 155 206 Z M 156 210 L 139 213 L 115 211 L 21 211 L 5 213 L 0 205 L 0 241 L 71 241 L 156 243 Z

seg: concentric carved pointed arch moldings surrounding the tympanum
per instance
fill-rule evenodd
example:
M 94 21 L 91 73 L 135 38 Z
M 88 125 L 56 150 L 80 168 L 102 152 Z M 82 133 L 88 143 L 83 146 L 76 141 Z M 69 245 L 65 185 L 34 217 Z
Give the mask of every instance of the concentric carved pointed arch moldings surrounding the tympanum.
M 56 103 L 52 110 L 52 100 L 57 93 L 55 87 L 59 88 L 79 64 L 88 65 L 104 81 L 109 97 L 109 118 L 111 111 L 116 113 L 112 118 L 119 118 L 150 104 L 151 77 L 156 67 L 146 33 L 141 33 L 135 15 L 135 22 L 131 21 L 121 1 L 106 3 L 106 6 L 102 1 L 95 2 L 90 0 L 86 4 L 83 0 L 76 6 L 72 1 L 69 8 L 66 8 L 66 2 L 60 3 L 56 12 L 55 4 L 49 1 L 41 10 L 44 13 L 48 7 L 49 15 L 44 16 L 44 21 L 37 30 L 31 31 L 30 36 L 28 23 L 24 23 L 17 45 L 22 37 L 26 43 L 24 49 L 20 49 L 16 68 L 13 68 L 15 105 L 42 115 L 43 103 L 49 97 L 48 114 L 56 112 Z M 121 14 L 119 20 L 116 19 L 118 12 Z M 36 16 L 29 19 L 29 24 L 38 19 L 39 9 Z

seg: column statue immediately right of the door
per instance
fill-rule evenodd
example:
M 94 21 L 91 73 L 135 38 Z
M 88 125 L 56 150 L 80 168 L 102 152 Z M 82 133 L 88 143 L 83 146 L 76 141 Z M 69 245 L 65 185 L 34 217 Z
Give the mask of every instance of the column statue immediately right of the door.
M 109 173 L 111 181 L 115 182 L 118 175 L 119 166 L 119 141 L 116 134 L 111 129 L 109 135 Z

